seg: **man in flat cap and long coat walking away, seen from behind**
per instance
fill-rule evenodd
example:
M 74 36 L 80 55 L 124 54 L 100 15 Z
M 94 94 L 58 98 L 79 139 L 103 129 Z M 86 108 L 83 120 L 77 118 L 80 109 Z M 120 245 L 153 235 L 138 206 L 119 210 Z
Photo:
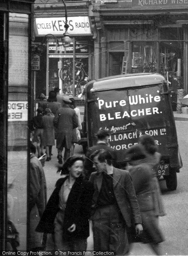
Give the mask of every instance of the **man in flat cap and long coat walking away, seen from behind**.
M 62 164 L 62 151 L 65 148 L 64 160 L 70 156 L 72 143 L 72 131 L 78 127 L 78 117 L 76 112 L 69 107 L 71 101 L 67 96 L 63 96 L 64 106 L 55 113 L 54 126 L 57 128 L 56 148 L 58 148 L 58 163 Z

